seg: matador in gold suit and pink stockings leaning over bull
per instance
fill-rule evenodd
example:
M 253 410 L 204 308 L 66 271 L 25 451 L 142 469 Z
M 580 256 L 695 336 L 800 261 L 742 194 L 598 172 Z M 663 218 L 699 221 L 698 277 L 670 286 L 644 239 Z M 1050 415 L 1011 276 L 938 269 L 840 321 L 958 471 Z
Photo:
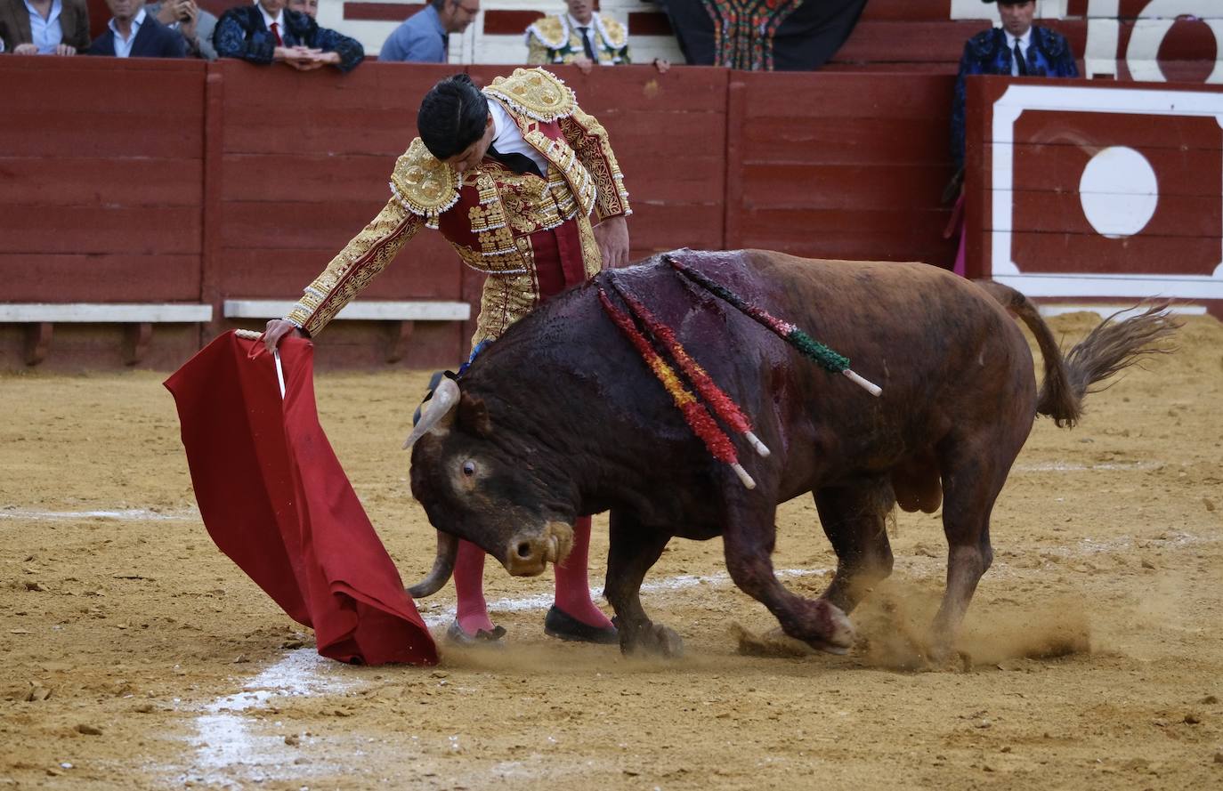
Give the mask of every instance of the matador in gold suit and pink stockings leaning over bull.
M 554 75 L 517 68 L 483 90 L 467 75 L 443 79 L 421 101 L 417 128 L 421 136 L 395 163 L 385 207 L 287 317 L 268 322 L 269 350 L 289 333 L 320 333 L 426 227 L 489 275 L 473 356 L 539 302 L 627 263 L 629 193 L 607 131 Z M 615 627 L 591 602 L 589 535 L 591 517 L 582 516 L 569 557 L 555 566 L 556 604 L 544 631 L 615 643 Z M 459 611 L 448 632 L 454 641 L 497 639 L 505 631 L 489 620 L 483 572 L 484 551 L 461 543 Z

